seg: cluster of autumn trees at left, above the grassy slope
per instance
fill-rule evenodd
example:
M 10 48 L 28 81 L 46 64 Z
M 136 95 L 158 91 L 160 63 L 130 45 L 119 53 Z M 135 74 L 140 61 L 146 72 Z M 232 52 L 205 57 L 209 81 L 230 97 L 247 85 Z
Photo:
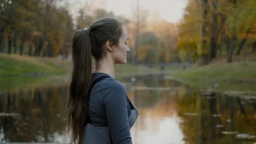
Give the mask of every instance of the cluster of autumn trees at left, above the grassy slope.
M 6 47 L 2 41 L 7 41 L 9 54 L 60 55 L 63 45 L 67 45 L 65 40 L 71 37 L 65 38 L 67 33 L 72 33 L 73 22 L 67 9 L 57 7 L 57 2 L 0 1 L 0 51 Z

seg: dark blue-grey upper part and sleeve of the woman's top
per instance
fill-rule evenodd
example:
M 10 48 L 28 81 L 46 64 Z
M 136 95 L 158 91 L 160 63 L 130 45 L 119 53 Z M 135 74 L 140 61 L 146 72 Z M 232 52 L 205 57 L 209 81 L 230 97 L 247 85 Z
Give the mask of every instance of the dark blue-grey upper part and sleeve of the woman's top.
M 92 79 L 103 75 L 108 74 L 94 73 Z M 112 77 L 97 82 L 91 89 L 89 109 L 91 123 L 109 127 L 113 143 L 132 143 L 128 121 L 131 107 L 122 83 Z

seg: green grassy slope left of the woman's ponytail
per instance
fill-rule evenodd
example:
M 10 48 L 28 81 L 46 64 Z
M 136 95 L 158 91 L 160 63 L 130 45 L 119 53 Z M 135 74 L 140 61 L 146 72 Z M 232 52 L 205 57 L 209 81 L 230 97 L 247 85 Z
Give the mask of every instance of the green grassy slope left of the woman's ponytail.
M 68 69 L 58 61 L 57 58 L 0 53 L 0 92 L 42 87 L 66 80 Z

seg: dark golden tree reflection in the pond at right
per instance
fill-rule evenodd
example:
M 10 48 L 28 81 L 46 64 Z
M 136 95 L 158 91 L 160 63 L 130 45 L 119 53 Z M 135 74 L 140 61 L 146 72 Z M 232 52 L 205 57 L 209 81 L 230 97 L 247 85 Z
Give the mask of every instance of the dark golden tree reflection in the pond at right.
M 190 91 L 187 88 L 183 91 L 177 99 L 177 105 L 179 116 L 184 118 L 182 128 L 187 143 L 255 142 L 255 99 L 223 94 L 202 96 L 197 90 Z M 241 139 L 241 134 L 251 137 Z

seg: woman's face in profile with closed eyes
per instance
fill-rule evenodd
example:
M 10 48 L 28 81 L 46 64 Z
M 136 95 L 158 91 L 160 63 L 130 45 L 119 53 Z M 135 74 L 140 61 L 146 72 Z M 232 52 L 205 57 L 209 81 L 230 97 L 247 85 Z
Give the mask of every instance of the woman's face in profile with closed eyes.
M 126 29 L 123 27 L 123 33 L 119 38 L 119 44 L 113 47 L 113 58 L 115 64 L 125 64 L 127 52 L 130 51 L 127 40 L 129 39 L 129 35 L 127 34 Z

